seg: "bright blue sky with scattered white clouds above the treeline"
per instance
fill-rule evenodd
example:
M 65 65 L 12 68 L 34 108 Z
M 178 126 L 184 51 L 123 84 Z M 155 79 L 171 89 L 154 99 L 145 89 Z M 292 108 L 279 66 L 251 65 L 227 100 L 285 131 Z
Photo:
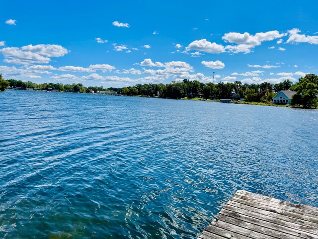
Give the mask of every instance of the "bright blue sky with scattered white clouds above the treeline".
M 3 1 L 0 72 L 104 87 L 296 82 L 318 74 L 317 7 L 316 0 Z

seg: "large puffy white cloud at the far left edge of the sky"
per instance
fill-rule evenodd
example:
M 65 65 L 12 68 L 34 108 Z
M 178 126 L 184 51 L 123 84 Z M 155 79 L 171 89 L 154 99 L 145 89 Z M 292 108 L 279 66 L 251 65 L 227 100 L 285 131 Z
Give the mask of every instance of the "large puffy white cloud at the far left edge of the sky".
M 51 61 L 51 57 L 61 57 L 68 52 L 63 46 L 45 44 L 0 49 L 0 54 L 5 58 L 4 62 L 24 65 L 31 63 L 47 64 Z

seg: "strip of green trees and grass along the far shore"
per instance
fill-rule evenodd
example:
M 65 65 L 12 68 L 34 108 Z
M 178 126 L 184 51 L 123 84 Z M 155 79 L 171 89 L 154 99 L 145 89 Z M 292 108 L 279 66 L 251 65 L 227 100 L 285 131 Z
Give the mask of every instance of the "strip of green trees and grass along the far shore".
M 118 95 L 127 96 L 146 96 L 167 99 L 184 99 L 184 100 L 204 100 L 218 101 L 220 99 L 232 99 L 234 103 L 266 105 L 266 106 L 284 106 L 273 104 L 273 97 L 279 91 L 297 92 L 291 100 L 290 106 L 301 107 L 306 109 L 318 107 L 318 76 L 307 74 L 299 79 L 296 84 L 290 80 L 271 84 L 263 82 L 261 84 L 242 84 L 236 82 L 219 82 L 219 83 L 201 83 L 199 81 L 189 81 L 184 79 L 182 82 L 172 81 L 169 84 L 137 84 L 124 88 L 103 88 L 103 86 L 84 87 L 78 84 L 62 83 L 43 83 L 36 84 L 33 82 L 23 82 L 21 80 L 4 80 L 0 75 L 0 91 L 6 88 L 10 89 L 34 89 L 39 91 L 58 91 L 72 93 L 97 93 L 97 92 L 116 92 Z

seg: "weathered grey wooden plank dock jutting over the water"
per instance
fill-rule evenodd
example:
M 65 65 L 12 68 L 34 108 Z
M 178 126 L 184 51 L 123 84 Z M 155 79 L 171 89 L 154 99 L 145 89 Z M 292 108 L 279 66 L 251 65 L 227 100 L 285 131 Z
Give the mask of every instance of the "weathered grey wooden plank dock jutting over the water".
M 318 239 L 318 208 L 239 190 L 198 239 Z

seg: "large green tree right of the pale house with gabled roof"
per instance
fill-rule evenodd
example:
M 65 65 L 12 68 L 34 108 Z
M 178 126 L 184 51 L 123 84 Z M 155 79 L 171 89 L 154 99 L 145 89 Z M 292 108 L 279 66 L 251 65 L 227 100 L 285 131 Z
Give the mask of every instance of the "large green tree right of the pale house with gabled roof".
M 296 95 L 292 97 L 291 105 L 303 106 L 304 108 L 318 107 L 318 76 L 308 74 L 299 79 L 295 85 L 294 90 Z

